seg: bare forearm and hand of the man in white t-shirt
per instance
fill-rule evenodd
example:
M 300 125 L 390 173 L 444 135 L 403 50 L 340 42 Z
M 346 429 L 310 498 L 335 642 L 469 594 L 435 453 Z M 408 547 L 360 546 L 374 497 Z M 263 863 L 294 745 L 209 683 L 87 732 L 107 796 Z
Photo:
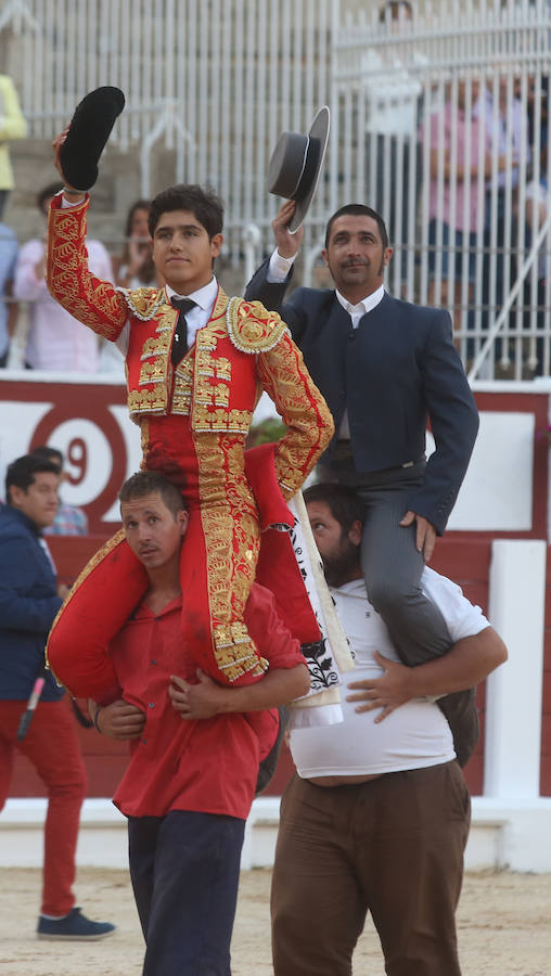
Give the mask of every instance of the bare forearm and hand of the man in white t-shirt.
M 436 660 L 409 668 L 388 660 L 375 652 L 377 664 L 385 669 L 381 678 L 353 681 L 347 702 L 360 702 L 356 711 L 381 708 L 376 721 L 382 721 L 411 698 L 438 697 L 472 688 L 507 660 L 507 647 L 494 630 L 486 627 L 473 637 L 458 641 Z

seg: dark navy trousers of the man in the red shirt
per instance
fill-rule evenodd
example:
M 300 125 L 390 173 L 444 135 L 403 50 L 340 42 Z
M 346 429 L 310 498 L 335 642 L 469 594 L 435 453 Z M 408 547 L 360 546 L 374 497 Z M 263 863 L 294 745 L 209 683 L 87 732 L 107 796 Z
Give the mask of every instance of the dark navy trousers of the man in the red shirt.
M 234 817 L 188 810 L 129 818 L 143 976 L 231 976 L 244 831 Z

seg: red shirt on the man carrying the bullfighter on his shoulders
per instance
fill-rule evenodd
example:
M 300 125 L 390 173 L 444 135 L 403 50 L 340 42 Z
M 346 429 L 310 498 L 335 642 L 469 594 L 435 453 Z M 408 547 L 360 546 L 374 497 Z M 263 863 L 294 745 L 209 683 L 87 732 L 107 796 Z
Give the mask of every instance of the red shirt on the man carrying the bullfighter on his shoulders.
M 123 696 L 146 719 L 141 739 L 130 743 L 130 762 L 113 801 L 127 817 L 196 810 L 245 820 L 255 795 L 260 749 L 266 754 L 271 742 L 259 742 L 242 714 L 183 720 L 175 710 L 168 697 L 170 675 L 196 680 L 195 666 L 185 658 L 180 620 L 181 599 L 156 616 L 141 604 L 110 645 Z M 271 593 L 258 585 L 247 602 L 245 621 L 270 669 L 305 663 L 298 641 L 276 614 Z M 254 724 L 258 728 L 258 722 Z M 277 727 L 268 721 L 267 728 L 272 728 L 273 741 Z

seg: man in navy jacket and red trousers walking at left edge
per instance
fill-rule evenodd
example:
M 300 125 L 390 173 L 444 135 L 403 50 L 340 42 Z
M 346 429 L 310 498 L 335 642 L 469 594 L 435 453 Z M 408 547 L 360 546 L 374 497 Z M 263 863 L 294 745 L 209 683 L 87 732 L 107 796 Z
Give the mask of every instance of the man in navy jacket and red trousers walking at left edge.
M 26 454 L 5 477 L 0 509 L 0 809 L 10 792 L 15 750 L 33 763 L 48 793 L 42 906 L 38 938 L 101 939 L 115 926 L 75 908 L 73 884 L 86 771 L 75 720 L 51 671 L 44 671 L 48 631 L 68 593 L 55 579 L 42 530 L 54 519 L 59 473 Z M 38 677 L 44 678 L 28 732 L 20 720 Z

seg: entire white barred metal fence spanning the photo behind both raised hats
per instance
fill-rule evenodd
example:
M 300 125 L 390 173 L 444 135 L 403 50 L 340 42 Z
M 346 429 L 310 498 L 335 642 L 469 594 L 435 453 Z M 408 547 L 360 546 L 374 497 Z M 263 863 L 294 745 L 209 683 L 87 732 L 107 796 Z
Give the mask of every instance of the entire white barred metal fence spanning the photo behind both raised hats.
M 118 85 L 113 139 L 136 153 L 142 193 L 153 147 L 174 149 L 175 179 L 225 198 L 229 253 L 247 271 L 271 247 L 271 149 L 330 104 L 305 281 L 329 214 L 369 203 L 395 246 L 389 287 L 448 305 L 473 376 L 548 375 L 550 2 L 439 0 L 412 20 L 400 4 L 397 21 L 386 7 L 381 20 L 347 0 L 5 0 L 0 29 L 26 65 L 34 136 Z

